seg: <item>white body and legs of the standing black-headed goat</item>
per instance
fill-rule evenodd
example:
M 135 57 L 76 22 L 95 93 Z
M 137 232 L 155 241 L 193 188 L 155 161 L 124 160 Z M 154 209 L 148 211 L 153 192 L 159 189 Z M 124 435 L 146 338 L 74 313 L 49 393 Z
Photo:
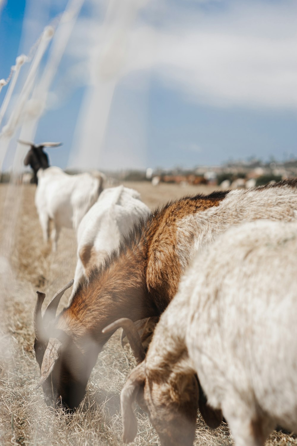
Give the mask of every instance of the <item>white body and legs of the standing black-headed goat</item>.
M 49 240 L 49 220 L 53 220 L 53 251 L 61 227 L 77 229 L 81 219 L 96 202 L 102 191 L 103 178 L 89 173 L 68 175 L 59 167 L 39 169 L 35 205 L 42 228 L 43 239 Z

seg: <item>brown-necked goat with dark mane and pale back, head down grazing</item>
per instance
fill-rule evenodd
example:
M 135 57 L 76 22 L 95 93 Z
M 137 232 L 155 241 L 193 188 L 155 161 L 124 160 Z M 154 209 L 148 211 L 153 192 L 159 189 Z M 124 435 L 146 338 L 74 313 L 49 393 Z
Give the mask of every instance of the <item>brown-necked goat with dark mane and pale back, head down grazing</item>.
M 81 281 L 71 304 L 38 324 L 40 384 L 51 404 L 79 405 L 98 353 L 102 328 L 121 317 L 159 316 L 177 292 L 195 252 L 228 227 L 259 218 L 297 218 L 297 180 L 250 190 L 181 198 L 140 220 L 100 267 Z M 41 300 L 35 319 L 41 321 Z M 50 308 L 57 309 L 55 304 Z M 37 327 L 37 324 L 35 323 Z M 41 340 L 39 340 L 41 339 Z

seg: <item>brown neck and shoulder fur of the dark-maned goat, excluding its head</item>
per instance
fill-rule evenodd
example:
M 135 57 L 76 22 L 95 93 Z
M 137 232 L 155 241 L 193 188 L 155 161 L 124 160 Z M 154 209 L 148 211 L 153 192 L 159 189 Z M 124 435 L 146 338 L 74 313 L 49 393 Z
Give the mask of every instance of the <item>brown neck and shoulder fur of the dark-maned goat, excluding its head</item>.
M 226 194 L 181 198 L 134 227 L 119 250 L 105 264 L 94 267 L 78 286 L 69 308 L 61 314 L 59 328 L 68 326 L 76 336 L 78 331 L 92 333 L 102 345 L 110 334 L 102 335 L 101 330 L 114 320 L 159 316 L 174 296 L 183 273 L 175 252 L 175 223 L 186 215 L 218 206 Z M 82 254 L 84 263 L 91 264 L 91 250 Z

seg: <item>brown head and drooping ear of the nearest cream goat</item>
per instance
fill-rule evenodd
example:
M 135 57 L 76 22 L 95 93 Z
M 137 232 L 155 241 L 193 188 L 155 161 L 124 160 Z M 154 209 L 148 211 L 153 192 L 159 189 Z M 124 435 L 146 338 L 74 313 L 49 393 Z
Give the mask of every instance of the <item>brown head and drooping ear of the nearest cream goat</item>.
M 195 437 L 199 397 L 195 376 L 193 374 L 170 376 L 169 379 L 172 378 L 174 386 L 171 388 L 171 393 L 168 393 L 168 384 L 164 376 L 154 376 L 152 381 L 146 373 L 143 362 L 131 372 L 122 389 L 123 441 L 133 441 L 137 433 L 137 421 L 131 409 L 136 399 L 142 410 L 149 413 L 151 423 L 158 432 L 163 446 L 181 444 L 190 446 Z M 168 403 L 171 411 L 167 410 Z

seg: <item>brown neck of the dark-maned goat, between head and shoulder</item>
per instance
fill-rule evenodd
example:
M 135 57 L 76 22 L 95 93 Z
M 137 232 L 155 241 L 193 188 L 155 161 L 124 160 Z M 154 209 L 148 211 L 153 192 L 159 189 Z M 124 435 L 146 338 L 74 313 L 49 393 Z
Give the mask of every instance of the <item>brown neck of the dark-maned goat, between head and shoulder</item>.
M 143 257 L 141 251 L 127 252 L 108 268 L 103 265 L 93 269 L 78 286 L 71 304 L 61 314 L 59 325 L 66 323 L 73 333 L 88 332 L 102 348 L 112 334 L 102 334 L 102 328 L 115 319 L 129 317 L 137 321 L 158 314 L 148 297 Z

